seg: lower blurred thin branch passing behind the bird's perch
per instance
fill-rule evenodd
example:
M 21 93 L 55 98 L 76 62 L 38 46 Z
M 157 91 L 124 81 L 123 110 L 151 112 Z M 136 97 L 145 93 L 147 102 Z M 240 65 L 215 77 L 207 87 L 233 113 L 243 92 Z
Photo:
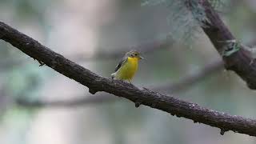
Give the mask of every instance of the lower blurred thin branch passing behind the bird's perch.
M 154 90 L 169 90 L 173 94 L 178 93 L 182 90 L 188 89 L 190 86 L 194 86 L 193 84 L 201 81 L 206 76 L 210 74 L 214 74 L 215 72 L 223 70 L 223 63 L 221 60 L 215 60 L 214 62 L 210 62 L 210 64 L 204 66 L 201 70 L 198 70 L 195 73 L 186 74 L 183 78 L 181 78 L 178 82 L 165 84 L 162 86 L 156 86 Z M 52 100 L 52 101 L 44 101 L 44 100 L 34 100 L 30 101 L 25 98 L 18 98 L 16 103 L 20 106 L 25 107 L 77 107 L 77 106 L 86 106 L 88 104 L 98 104 L 102 102 L 114 102 L 118 98 L 110 95 L 110 94 L 99 94 L 97 96 L 87 96 L 84 98 L 76 98 L 70 100 Z

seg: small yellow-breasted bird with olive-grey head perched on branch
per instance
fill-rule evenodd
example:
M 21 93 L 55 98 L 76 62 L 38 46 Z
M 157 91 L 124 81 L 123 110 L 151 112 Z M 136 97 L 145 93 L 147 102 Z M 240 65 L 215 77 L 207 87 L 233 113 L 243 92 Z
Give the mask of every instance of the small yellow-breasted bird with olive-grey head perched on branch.
M 143 59 L 138 51 L 130 50 L 122 58 L 122 61 L 115 67 L 114 73 L 111 77 L 114 79 L 128 80 L 129 82 L 134 77 L 138 70 L 138 61 Z

